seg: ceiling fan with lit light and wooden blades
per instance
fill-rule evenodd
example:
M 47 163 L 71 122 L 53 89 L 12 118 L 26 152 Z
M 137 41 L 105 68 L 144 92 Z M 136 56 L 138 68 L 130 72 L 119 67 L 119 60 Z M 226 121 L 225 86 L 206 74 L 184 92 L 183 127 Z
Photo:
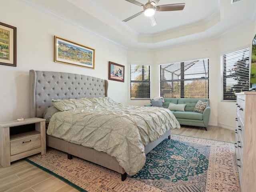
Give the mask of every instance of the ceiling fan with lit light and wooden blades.
M 150 19 L 150 23 L 153 26 L 155 26 L 157 24 L 156 18 L 154 16 L 156 11 L 178 11 L 178 10 L 183 10 L 185 3 L 178 3 L 178 4 L 167 4 L 167 5 L 159 5 L 156 6 L 156 4 L 160 1 L 160 0 L 148 0 L 148 2 L 146 4 L 142 4 L 136 0 L 126 0 L 130 3 L 133 3 L 135 5 L 141 6 L 143 8 L 143 11 L 138 12 L 137 14 L 123 20 L 124 22 L 129 21 L 131 19 L 133 19 L 136 16 L 139 16 L 140 14 L 144 13 L 145 16 L 148 16 Z

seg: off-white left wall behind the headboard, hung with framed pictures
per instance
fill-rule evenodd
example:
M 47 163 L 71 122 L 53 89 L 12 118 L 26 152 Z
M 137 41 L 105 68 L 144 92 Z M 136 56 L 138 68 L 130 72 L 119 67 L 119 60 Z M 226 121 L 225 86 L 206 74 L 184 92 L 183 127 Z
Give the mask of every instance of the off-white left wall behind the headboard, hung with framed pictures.
M 0 122 L 29 117 L 29 70 L 60 71 L 108 79 L 108 61 L 125 66 L 125 80 L 109 80 L 108 96 L 126 104 L 127 50 L 16 0 L 1 1 L 0 22 L 17 28 L 17 67 L 0 65 Z M 95 49 L 95 69 L 54 62 L 54 35 Z M 121 88 L 120 88 L 121 86 Z

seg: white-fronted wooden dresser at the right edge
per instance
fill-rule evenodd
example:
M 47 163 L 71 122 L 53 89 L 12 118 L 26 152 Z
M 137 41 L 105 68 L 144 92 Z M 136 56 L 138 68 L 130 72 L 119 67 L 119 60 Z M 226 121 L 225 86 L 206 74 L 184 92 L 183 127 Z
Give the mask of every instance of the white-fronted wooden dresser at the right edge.
M 256 92 L 237 93 L 236 159 L 241 192 L 256 191 Z

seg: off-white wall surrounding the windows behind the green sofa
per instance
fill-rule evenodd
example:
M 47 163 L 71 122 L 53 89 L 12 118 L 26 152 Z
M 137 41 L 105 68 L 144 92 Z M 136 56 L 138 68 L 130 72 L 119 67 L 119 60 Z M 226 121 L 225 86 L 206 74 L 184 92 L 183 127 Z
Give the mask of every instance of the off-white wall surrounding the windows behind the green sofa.
M 209 58 L 209 98 L 211 106 L 210 125 L 234 129 L 236 117 L 235 102 L 222 101 L 221 55 L 250 47 L 255 35 L 255 24 L 250 24 L 226 35 L 199 43 L 188 43 L 175 48 L 148 52 L 152 58 L 151 97 L 159 96 L 159 65 L 173 62 Z M 145 51 L 128 51 L 128 63 L 145 63 L 140 55 Z M 146 57 L 145 57 L 146 58 Z M 149 100 L 131 101 L 130 104 L 150 104 Z

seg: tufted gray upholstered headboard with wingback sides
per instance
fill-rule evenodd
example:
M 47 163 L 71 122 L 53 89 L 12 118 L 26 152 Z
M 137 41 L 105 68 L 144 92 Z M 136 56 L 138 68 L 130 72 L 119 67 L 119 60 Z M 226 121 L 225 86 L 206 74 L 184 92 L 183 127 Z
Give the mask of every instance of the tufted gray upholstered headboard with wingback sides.
M 30 117 L 43 118 L 52 99 L 108 96 L 108 81 L 96 77 L 51 71 L 29 71 Z

